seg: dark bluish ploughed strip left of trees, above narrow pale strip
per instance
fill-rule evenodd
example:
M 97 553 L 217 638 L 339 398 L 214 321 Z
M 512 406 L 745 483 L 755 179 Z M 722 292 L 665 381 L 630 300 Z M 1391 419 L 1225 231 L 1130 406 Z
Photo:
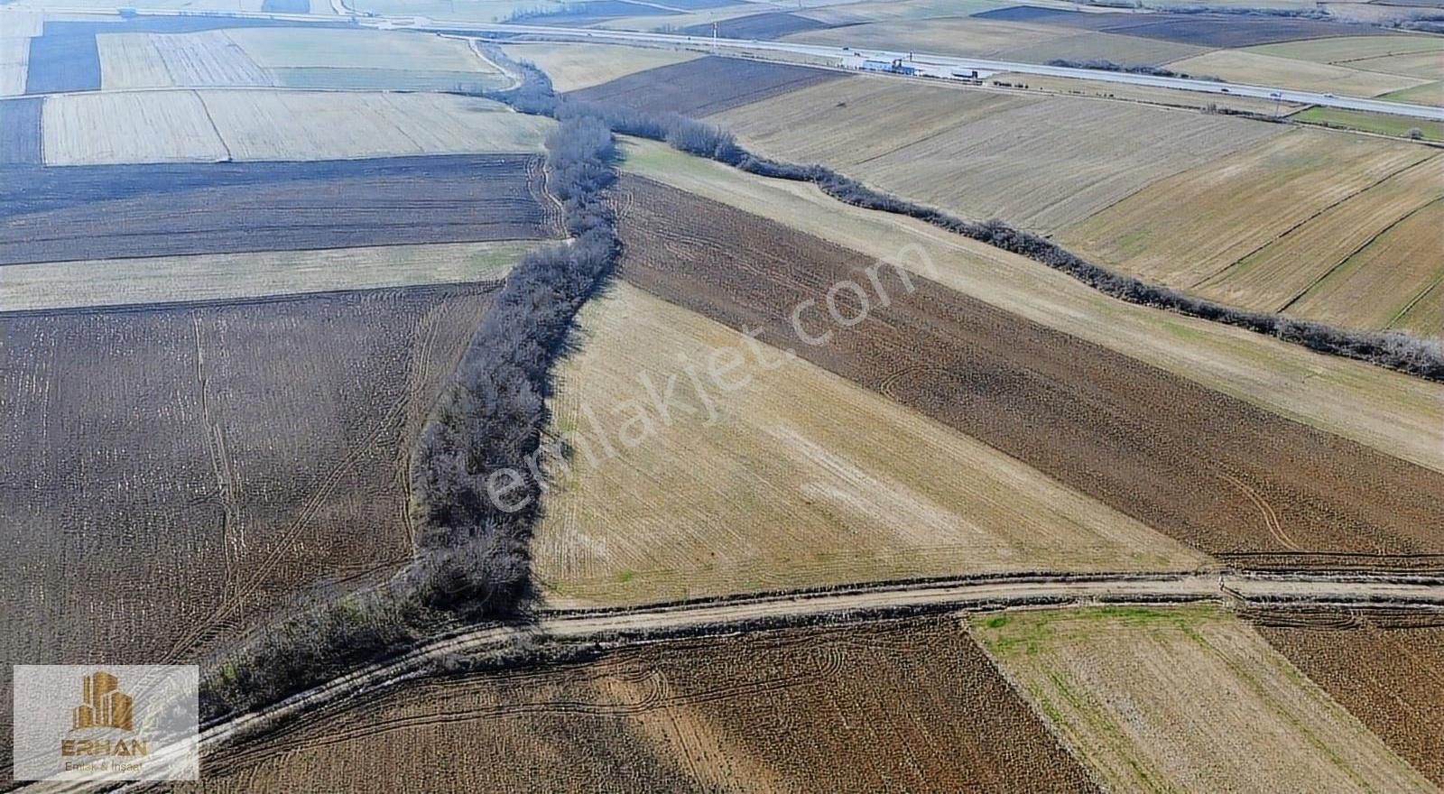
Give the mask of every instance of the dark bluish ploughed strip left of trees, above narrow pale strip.
M 77 166 L 0 186 L 0 264 L 554 235 L 540 159 Z M 176 212 L 178 206 L 195 208 Z

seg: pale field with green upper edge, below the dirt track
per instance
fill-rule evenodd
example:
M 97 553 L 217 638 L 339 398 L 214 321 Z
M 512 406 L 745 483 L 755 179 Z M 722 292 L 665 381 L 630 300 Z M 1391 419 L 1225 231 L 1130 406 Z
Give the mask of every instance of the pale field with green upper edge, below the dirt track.
M 982 647 L 1118 791 L 1437 791 L 1213 606 L 980 616 Z

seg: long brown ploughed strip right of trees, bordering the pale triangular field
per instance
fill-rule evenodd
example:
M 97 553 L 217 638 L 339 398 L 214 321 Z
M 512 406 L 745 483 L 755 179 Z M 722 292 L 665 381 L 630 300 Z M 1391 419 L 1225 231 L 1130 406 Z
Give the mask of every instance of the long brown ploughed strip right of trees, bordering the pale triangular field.
M 1444 474 L 934 282 L 914 277 L 908 292 L 892 267 L 865 274 L 861 254 L 645 179 L 624 178 L 619 205 L 630 283 L 761 328 L 758 339 L 1206 553 L 1262 567 L 1444 564 Z M 856 290 L 836 292 L 843 282 Z M 851 328 L 819 307 L 829 290 Z M 878 303 L 862 312 L 856 296 L 869 293 Z M 897 297 L 882 306 L 884 295 Z M 801 326 L 809 338 L 830 331 L 826 344 L 794 331 L 807 300 Z

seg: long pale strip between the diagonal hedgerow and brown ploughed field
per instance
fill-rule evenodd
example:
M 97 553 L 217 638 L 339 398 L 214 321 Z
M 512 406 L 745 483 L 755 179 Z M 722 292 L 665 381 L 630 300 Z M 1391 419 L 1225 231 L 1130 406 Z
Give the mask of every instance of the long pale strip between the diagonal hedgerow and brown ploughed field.
M 627 170 L 869 257 L 894 260 L 905 245 L 921 245 L 936 264 L 931 277 L 949 287 L 1281 416 L 1444 471 L 1444 398 L 1437 384 L 1113 300 L 1032 260 L 920 221 L 843 205 L 810 185 L 747 175 L 654 143 L 631 141 L 627 152 Z

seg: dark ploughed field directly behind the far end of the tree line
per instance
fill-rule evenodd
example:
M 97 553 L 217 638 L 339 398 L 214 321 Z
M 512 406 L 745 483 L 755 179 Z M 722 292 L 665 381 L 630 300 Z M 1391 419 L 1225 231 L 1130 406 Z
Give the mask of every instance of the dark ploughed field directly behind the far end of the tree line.
M 647 111 L 708 115 L 842 77 L 846 75 L 827 69 L 709 55 L 635 72 L 567 95 Z

